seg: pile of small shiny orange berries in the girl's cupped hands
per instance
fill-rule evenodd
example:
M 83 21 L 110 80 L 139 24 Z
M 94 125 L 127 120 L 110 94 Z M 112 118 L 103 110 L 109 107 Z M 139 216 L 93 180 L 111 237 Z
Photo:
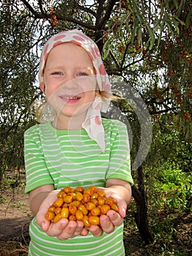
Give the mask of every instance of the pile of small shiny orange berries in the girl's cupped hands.
M 58 222 L 61 218 L 81 220 L 85 227 L 100 224 L 100 216 L 110 209 L 118 212 L 117 201 L 106 197 L 104 191 L 95 186 L 64 187 L 58 192 L 57 199 L 48 208 L 45 218 Z

